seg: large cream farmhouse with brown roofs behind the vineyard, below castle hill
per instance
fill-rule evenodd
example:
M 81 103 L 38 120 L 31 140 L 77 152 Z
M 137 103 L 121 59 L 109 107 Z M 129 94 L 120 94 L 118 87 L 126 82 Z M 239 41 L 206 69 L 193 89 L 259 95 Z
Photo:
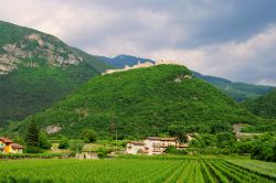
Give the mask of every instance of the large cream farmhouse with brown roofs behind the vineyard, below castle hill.
M 148 137 L 144 141 L 127 143 L 126 152 L 129 154 L 162 154 L 169 146 L 177 147 L 177 149 L 189 148 L 187 143 L 179 143 L 177 138 Z

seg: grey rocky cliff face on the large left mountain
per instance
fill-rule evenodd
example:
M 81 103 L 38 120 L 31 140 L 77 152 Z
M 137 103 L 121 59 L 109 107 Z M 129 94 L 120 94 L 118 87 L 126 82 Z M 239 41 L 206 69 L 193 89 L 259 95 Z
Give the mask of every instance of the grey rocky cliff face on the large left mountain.
M 70 47 L 57 39 L 49 39 L 38 33 L 26 35 L 18 43 L 6 44 L 0 49 L 3 52 L 0 54 L 0 75 L 17 69 L 18 63 L 29 67 L 39 66 L 39 63 L 32 60 L 33 57 L 43 57 L 50 66 L 57 67 L 77 65 L 83 62 L 79 55 L 72 52 Z M 31 60 L 31 62 L 23 62 L 28 60 Z

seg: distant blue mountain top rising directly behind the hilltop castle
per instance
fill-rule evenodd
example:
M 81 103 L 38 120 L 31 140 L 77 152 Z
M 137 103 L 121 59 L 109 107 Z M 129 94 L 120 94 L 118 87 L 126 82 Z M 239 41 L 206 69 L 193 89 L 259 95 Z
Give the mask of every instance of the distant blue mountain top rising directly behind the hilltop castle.
M 106 64 L 113 65 L 114 67 L 117 67 L 117 68 L 124 68 L 126 65 L 134 66 L 134 65 L 137 65 L 138 62 L 155 63 L 155 61 L 152 60 L 136 57 L 136 56 L 130 56 L 130 55 L 118 55 L 113 58 L 106 57 L 106 56 L 98 56 L 98 58 L 105 62 Z

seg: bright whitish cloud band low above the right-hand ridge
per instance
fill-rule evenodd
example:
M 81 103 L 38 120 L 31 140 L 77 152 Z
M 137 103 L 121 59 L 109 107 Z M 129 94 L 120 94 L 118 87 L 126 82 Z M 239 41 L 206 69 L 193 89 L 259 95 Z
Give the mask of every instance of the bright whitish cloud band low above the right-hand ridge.
M 181 61 L 191 69 L 262 85 L 276 85 L 276 26 L 244 42 L 226 42 L 194 50 L 161 50 L 150 56 L 156 60 Z

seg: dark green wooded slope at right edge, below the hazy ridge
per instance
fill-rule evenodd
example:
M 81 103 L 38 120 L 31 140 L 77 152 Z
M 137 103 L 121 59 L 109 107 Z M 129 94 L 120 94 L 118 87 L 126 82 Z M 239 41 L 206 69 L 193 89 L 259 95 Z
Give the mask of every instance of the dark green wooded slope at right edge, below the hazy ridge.
M 276 118 L 276 90 L 259 98 L 246 100 L 244 106 L 257 116 Z

